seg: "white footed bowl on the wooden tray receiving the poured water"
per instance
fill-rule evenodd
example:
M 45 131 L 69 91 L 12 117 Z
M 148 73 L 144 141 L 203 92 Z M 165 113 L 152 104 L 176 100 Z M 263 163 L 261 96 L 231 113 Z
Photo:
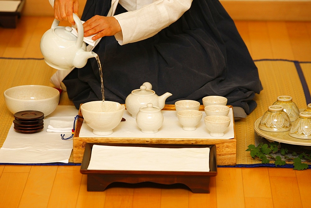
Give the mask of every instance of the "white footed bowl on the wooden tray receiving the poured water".
M 91 101 L 81 105 L 84 121 L 95 135 L 110 135 L 122 120 L 125 106 L 113 101 Z

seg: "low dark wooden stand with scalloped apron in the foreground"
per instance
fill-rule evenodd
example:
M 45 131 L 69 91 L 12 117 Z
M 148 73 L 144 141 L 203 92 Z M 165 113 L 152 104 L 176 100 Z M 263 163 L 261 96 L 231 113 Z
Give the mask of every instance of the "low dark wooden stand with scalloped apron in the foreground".
M 157 148 L 210 148 L 209 172 L 183 171 L 116 171 L 116 170 L 87 170 L 90 163 L 94 144 L 110 146 L 135 146 Z M 217 175 L 216 146 L 215 145 L 186 145 L 186 144 L 111 144 L 87 143 L 81 163 L 80 172 L 87 174 L 87 191 L 104 191 L 113 182 L 141 183 L 154 182 L 159 184 L 181 183 L 188 186 L 193 193 L 209 193 L 210 177 Z

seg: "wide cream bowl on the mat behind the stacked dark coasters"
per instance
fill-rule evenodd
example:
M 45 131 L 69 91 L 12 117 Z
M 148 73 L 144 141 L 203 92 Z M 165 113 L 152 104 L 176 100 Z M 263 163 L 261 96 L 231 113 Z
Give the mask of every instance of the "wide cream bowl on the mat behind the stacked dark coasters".
M 19 111 L 41 111 L 44 116 L 51 114 L 58 106 L 60 93 L 44 85 L 21 85 L 4 91 L 4 100 L 13 114 Z

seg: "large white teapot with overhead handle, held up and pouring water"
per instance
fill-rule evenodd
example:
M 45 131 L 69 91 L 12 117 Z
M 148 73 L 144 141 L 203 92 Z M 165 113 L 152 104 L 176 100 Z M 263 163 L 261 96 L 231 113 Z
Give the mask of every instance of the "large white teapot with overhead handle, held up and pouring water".
M 58 26 L 59 21 L 54 19 L 51 28 L 41 38 L 40 50 L 44 61 L 54 69 L 82 68 L 87 59 L 97 56 L 94 52 L 86 51 L 82 22 L 76 14 L 73 14 L 73 20 L 77 26 L 78 37 L 71 33 L 71 27 Z

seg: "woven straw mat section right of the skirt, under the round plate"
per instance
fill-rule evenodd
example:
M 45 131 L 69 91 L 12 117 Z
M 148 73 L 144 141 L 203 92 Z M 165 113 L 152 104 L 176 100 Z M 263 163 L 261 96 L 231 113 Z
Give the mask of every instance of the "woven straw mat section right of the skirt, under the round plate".
M 266 139 L 254 132 L 254 122 L 267 111 L 268 106 L 272 105 L 278 96 L 288 95 L 293 97 L 293 101 L 300 109 L 305 109 L 311 103 L 311 62 L 285 59 L 260 59 L 255 60 L 255 64 L 258 67 L 263 90 L 255 97 L 258 104 L 257 108 L 247 118 L 242 120 L 242 122 L 237 121 L 235 123 L 237 134 L 237 165 L 230 167 L 276 167 L 274 161 L 262 164 L 258 159 L 253 159 L 249 151 L 245 151 L 248 149 L 249 144 L 257 146 L 261 142 L 269 143 Z M 282 146 L 284 145 L 289 150 L 301 149 L 298 145 L 282 144 Z M 305 150 L 304 152 L 310 151 Z M 282 156 L 282 158 L 284 157 Z M 278 167 L 294 167 L 292 162 L 289 161 L 287 163 Z M 311 164 L 311 161 L 307 162 L 307 164 Z M 311 165 L 309 165 L 309 168 L 311 168 Z

